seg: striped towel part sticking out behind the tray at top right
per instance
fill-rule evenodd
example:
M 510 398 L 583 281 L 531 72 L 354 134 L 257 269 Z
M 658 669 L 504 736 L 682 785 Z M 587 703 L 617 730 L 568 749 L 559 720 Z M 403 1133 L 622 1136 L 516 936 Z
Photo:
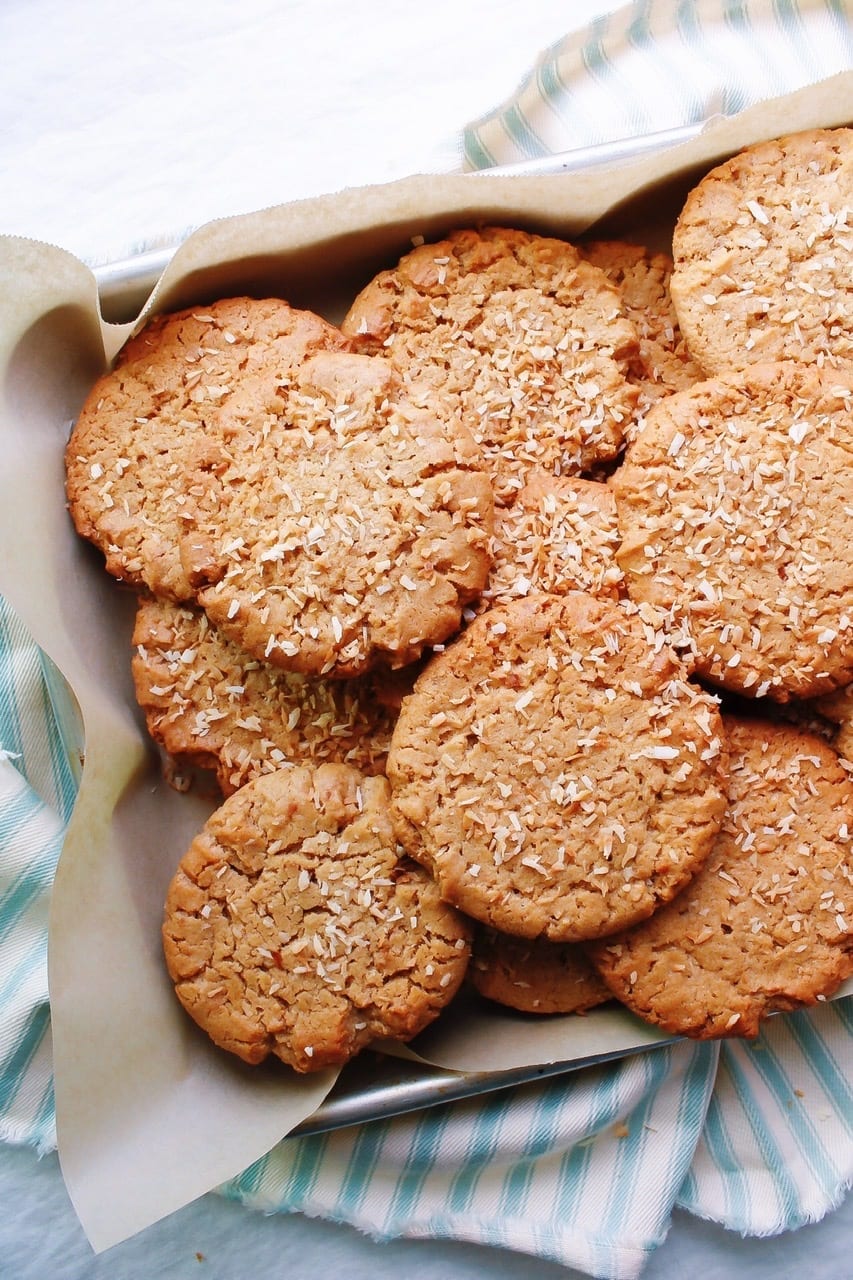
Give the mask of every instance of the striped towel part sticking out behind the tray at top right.
M 702 125 L 853 68 L 852 0 L 638 0 L 566 36 L 462 131 L 465 168 Z

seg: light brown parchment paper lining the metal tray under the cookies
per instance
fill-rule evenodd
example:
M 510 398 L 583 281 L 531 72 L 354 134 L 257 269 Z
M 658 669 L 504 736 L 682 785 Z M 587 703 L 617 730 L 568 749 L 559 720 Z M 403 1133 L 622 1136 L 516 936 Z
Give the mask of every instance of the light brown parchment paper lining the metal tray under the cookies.
M 145 312 L 237 293 L 279 294 L 339 319 L 415 234 L 500 221 L 666 246 L 688 186 L 740 146 L 853 116 L 853 76 L 753 108 L 692 143 L 607 172 L 415 177 L 211 223 L 175 253 Z M 597 229 L 598 230 L 598 229 Z M 177 1005 L 160 919 L 177 861 L 213 808 L 160 780 L 129 676 L 134 599 L 74 535 L 63 449 L 93 379 L 132 324 L 104 324 L 91 273 L 31 241 L 0 241 L 0 590 L 76 694 L 79 799 L 56 874 L 50 996 L 59 1152 L 78 1216 L 104 1249 L 260 1157 L 320 1103 L 334 1073 L 245 1068 Z M 81 737 L 82 740 L 82 737 Z M 534 1021 L 450 1010 L 414 1046 L 455 1070 L 630 1051 L 661 1034 L 608 1007 Z

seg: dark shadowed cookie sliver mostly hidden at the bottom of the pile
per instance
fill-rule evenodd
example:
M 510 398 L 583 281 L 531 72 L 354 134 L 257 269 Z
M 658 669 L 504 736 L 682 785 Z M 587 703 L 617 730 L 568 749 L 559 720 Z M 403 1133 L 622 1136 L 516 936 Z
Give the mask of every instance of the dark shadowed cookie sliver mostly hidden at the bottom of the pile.
M 584 1014 L 611 1000 L 583 946 L 474 933 L 469 980 L 487 1000 L 524 1014 Z

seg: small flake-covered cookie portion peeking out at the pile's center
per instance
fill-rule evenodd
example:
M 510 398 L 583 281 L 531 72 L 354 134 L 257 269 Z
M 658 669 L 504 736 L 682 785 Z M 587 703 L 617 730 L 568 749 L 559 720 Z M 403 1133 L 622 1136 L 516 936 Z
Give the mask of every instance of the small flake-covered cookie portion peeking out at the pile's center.
M 532 472 L 511 507 L 494 511 L 494 563 L 482 604 L 530 591 L 616 595 L 622 571 L 616 502 L 596 480 Z

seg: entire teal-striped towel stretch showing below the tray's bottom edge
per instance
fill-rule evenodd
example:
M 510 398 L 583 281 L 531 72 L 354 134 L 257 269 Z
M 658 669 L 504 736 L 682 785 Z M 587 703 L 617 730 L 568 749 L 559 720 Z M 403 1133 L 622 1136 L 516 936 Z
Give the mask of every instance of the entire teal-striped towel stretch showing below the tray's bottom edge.
M 371 1235 L 447 1236 L 630 1280 L 672 1207 L 745 1235 L 853 1181 L 853 998 L 754 1042 L 679 1043 L 546 1083 L 295 1138 L 220 1188 Z

